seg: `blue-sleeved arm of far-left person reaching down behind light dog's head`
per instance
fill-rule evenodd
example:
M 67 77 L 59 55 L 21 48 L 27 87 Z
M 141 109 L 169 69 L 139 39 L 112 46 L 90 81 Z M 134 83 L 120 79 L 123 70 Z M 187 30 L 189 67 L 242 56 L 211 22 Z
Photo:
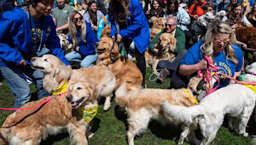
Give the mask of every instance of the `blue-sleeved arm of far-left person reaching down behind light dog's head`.
M 57 36 L 54 22 L 51 17 L 46 18 L 49 21 L 49 26 L 52 28 L 49 38 L 45 42 L 46 47 L 51 51 L 52 55 L 58 57 L 66 66 L 70 66 L 67 59 L 64 57 L 64 52 L 60 46 L 60 38 Z

